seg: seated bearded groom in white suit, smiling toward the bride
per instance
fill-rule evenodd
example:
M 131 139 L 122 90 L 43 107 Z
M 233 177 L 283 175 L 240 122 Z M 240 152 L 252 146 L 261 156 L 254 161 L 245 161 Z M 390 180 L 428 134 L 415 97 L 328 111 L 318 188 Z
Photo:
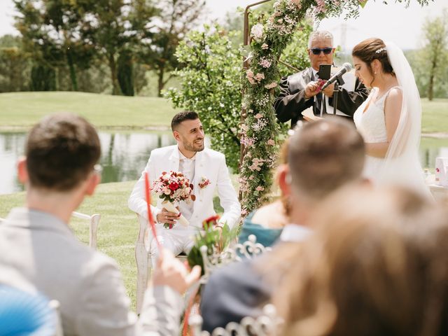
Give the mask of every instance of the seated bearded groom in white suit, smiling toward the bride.
M 162 172 L 182 172 L 190 183 L 193 183 L 195 202 L 181 202 L 179 211 L 190 224 L 185 227 L 177 223 L 178 215 L 162 207 L 158 200 L 157 207 L 151 206 L 153 218 L 157 220 L 159 241 L 175 255 L 188 253 L 193 247 L 193 237 L 202 228 L 202 221 L 216 215 L 213 207 L 214 191 L 218 188 L 218 196 L 224 214 L 218 221 L 217 230 L 225 223 L 230 228 L 239 220 L 241 206 L 237 193 L 232 186 L 225 156 L 222 153 L 204 148 L 204 129 L 197 113 L 183 111 L 177 113 L 171 123 L 174 139 L 177 145 L 155 149 L 151 152 L 148 164 L 142 172 L 139 181 L 134 186 L 128 200 L 130 209 L 148 219 L 144 190 L 144 173 L 148 172 L 152 185 Z M 209 180 L 207 186 L 200 187 L 201 180 Z M 163 224 L 174 225 L 172 229 L 164 228 Z M 154 240 L 154 238 L 153 238 Z M 157 244 L 151 241 L 151 253 L 158 254 Z

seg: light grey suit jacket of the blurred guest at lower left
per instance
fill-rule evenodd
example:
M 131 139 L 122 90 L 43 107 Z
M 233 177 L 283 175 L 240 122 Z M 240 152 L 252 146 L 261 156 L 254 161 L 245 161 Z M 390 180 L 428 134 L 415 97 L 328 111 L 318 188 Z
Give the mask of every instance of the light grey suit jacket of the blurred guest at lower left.
M 66 336 L 179 332 L 179 293 L 167 287 L 147 290 L 137 321 L 116 262 L 81 244 L 66 223 L 41 211 L 13 209 L 0 225 L 0 283 L 58 300 Z

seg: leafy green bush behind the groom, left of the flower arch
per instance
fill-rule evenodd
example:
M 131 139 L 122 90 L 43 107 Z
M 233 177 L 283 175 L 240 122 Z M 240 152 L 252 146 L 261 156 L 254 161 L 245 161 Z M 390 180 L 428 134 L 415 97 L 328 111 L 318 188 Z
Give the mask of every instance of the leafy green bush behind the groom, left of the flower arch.
M 241 52 L 233 48 L 232 32 L 220 26 L 191 31 L 176 50 L 182 69 L 174 71 L 181 89 L 170 88 L 165 97 L 174 107 L 197 111 L 211 146 L 225 154 L 228 166 L 239 162 L 241 109 Z

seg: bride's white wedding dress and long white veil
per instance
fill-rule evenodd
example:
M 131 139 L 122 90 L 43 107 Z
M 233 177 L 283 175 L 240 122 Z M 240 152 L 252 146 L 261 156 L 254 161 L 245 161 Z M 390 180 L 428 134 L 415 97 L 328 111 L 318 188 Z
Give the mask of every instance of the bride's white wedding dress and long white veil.
M 415 84 L 414 73 L 402 50 L 395 43 L 386 41 L 387 57 L 402 92 L 400 120 L 388 144 L 384 158 L 367 155 L 364 174 L 379 186 L 403 186 L 432 199 L 428 186 L 423 179 L 419 160 L 421 137 L 421 102 Z M 396 88 L 396 87 L 395 87 Z M 372 89 L 367 100 L 356 110 L 353 119 L 366 143 L 384 142 L 386 120 L 384 102 L 388 92 L 370 104 L 377 96 L 377 88 Z M 396 89 L 395 89 L 396 90 Z

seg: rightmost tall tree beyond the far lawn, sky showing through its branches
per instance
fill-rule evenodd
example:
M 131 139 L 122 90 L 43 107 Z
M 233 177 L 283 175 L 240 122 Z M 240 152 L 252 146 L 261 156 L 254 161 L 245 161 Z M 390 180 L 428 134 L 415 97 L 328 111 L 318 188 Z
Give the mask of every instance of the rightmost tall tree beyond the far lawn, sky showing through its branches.
M 179 65 L 174 56 L 179 41 L 195 27 L 203 13 L 204 0 L 162 0 L 158 2 L 158 15 L 144 26 L 137 25 L 140 62 L 146 64 L 158 76 L 158 95 L 172 78 Z M 138 22 L 142 22 L 139 18 Z M 146 21 L 148 22 L 148 21 Z

